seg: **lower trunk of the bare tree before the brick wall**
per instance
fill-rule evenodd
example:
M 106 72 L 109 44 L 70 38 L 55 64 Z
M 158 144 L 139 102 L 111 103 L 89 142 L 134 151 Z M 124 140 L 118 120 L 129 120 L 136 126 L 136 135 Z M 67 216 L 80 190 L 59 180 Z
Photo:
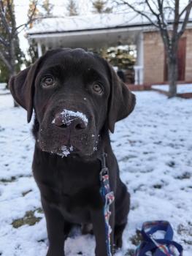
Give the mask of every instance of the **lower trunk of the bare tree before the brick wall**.
M 177 96 L 177 53 L 168 61 L 169 98 Z

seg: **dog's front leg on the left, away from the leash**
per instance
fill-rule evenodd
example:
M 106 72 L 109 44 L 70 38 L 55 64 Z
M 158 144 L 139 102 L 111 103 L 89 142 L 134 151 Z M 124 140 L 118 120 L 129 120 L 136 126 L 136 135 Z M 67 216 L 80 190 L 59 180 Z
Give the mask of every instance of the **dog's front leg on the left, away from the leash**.
M 43 199 L 42 207 L 45 211 L 49 240 L 47 256 L 64 256 L 64 217 L 58 209 L 51 207 Z

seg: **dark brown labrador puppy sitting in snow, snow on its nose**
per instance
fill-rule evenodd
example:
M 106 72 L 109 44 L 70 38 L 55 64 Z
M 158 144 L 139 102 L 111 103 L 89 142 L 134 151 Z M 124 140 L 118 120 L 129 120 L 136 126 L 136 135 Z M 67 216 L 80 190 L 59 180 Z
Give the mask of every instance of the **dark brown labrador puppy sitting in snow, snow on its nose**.
M 134 109 L 135 97 L 110 64 L 82 49 L 50 50 L 9 81 L 15 101 L 34 110 L 36 140 L 33 172 L 45 211 L 47 256 L 64 256 L 64 241 L 73 225 L 93 232 L 96 256 L 122 246 L 129 194 L 120 180 L 109 129 Z M 105 152 L 110 189 L 110 254 L 107 252 L 101 155 Z

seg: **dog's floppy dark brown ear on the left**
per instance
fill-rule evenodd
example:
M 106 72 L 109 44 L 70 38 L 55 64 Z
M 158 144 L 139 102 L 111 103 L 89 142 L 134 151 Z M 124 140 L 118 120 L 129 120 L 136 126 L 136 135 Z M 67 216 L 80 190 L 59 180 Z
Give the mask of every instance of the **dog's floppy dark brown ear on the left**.
M 41 58 L 31 67 L 28 67 L 12 76 L 9 80 L 9 89 L 15 101 L 27 110 L 27 121 L 31 121 L 33 113 L 34 82 Z

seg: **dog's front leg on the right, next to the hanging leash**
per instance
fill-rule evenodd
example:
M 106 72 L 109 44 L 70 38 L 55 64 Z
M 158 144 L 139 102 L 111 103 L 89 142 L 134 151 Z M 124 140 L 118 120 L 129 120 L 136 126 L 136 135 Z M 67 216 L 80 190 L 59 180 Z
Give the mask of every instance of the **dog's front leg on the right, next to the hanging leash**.
M 106 236 L 103 209 L 101 208 L 99 210 L 92 210 L 91 220 L 93 223 L 93 233 L 96 237 L 96 250 L 95 250 L 96 256 L 108 256 L 107 243 L 106 243 L 107 236 Z M 111 253 L 112 253 L 112 246 L 111 246 Z

